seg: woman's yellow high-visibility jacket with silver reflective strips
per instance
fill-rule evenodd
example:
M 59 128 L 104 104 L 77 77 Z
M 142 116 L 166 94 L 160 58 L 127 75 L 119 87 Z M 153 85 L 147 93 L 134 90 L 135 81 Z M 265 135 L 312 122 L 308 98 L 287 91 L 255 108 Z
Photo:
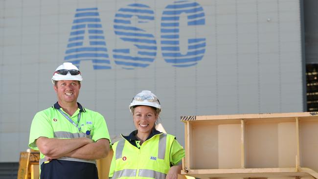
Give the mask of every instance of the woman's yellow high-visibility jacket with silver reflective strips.
M 184 157 L 184 149 L 175 136 L 156 132 L 142 145 L 138 145 L 139 141 L 134 141 L 136 145 L 133 145 L 134 143 L 132 144 L 127 136 L 115 142 L 110 177 L 113 179 L 165 179 L 170 166 L 180 163 Z

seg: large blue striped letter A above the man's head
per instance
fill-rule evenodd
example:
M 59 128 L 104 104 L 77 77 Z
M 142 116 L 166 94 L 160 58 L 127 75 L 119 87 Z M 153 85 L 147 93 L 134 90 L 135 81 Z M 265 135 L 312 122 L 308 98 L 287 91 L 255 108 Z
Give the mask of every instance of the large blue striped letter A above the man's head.
M 87 34 L 88 46 L 84 44 Z M 81 61 L 91 60 L 94 69 L 111 68 L 97 8 L 76 9 L 64 60 L 78 67 Z

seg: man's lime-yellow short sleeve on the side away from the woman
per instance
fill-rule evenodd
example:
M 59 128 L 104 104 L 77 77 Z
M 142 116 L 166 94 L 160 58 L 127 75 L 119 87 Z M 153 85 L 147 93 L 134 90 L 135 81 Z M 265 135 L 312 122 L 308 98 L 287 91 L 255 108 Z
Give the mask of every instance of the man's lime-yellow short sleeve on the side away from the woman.
M 53 128 L 50 123 L 50 118 L 45 112 L 38 112 L 35 114 L 29 136 L 29 147 L 34 150 L 39 150 L 36 145 L 36 139 L 39 137 L 53 138 Z

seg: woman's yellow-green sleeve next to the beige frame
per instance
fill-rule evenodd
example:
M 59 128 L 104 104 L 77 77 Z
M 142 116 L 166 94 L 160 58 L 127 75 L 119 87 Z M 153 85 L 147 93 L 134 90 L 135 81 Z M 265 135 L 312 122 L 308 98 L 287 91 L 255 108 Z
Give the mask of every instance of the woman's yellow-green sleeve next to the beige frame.
M 174 139 L 170 149 L 170 165 L 179 165 L 181 164 L 182 158 L 185 156 L 185 152 L 180 143 Z

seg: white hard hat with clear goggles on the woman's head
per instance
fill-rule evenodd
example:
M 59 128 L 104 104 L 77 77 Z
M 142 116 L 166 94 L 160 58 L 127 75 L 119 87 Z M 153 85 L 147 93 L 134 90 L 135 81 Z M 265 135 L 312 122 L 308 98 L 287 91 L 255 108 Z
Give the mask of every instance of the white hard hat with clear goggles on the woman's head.
M 132 100 L 129 105 L 129 110 L 133 113 L 134 106 L 152 106 L 159 109 L 161 111 L 160 102 L 157 96 L 148 90 L 143 90 L 139 92 Z

